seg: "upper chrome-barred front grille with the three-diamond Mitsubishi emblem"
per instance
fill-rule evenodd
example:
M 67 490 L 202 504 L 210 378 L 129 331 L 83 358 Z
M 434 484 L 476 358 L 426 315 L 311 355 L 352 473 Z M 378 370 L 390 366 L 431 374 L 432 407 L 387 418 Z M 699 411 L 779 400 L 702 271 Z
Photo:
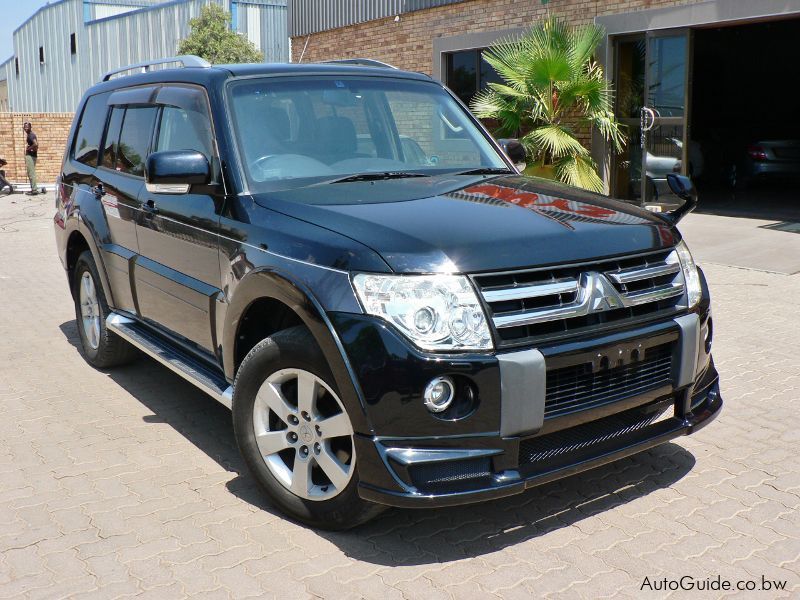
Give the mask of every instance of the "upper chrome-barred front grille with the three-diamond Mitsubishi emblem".
M 501 348 L 674 315 L 685 297 L 674 250 L 473 280 Z

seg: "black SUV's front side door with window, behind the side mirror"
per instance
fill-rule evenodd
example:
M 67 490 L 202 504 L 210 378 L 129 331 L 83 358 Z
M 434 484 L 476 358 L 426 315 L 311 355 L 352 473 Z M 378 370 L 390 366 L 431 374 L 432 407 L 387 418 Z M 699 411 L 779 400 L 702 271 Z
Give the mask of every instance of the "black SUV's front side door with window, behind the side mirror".
M 165 85 L 157 95 L 159 117 L 152 152 L 196 150 L 212 168 L 212 182 L 189 193 L 140 194 L 140 258 L 135 272 L 142 316 L 198 350 L 215 352 L 214 309 L 220 294 L 219 214 L 224 194 L 203 88 Z

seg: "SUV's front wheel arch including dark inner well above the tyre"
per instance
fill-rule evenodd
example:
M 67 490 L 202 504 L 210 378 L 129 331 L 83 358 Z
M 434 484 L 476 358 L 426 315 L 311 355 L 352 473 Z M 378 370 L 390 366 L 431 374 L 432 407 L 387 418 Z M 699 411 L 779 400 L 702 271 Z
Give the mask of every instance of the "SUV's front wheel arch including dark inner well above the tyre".
M 265 311 L 270 310 L 280 312 L 266 315 Z M 266 325 L 254 323 L 254 319 L 264 316 L 269 318 Z M 250 324 L 257 334 L 246 330 Z M 302 324 L 309 329 L 331 368 L 353 426 L 359 433 L 371 433 L 372 426 L 367 419 L 360 386 L 336 330 L 311 290 L 288 273 L 272 269 L 253 271 L 236 286 L 223 327 L 225 376 L 233 381 L 246 352 L 264 337 L 284 328 L 281 327 L 283 324 L 286 327 Z M 261 332 L 269 333 L 255 339 Z

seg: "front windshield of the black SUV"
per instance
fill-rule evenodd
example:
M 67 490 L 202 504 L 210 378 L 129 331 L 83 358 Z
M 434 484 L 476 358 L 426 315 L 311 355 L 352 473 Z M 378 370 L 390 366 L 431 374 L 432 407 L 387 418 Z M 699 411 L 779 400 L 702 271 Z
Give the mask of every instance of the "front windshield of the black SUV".
M 464 109 L 433 82 L 265 77 L 234 82 L 230 99 L 255 192 L 372 173 L 507 168 Z

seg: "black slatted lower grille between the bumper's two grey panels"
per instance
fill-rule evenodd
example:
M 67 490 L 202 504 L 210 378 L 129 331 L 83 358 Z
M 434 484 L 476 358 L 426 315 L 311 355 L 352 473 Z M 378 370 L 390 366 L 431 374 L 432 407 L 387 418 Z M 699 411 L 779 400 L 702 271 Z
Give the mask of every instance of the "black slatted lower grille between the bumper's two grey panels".
M 586 362 L 547 371 L 544 416 L 560 417 L 672 386 L 672 345 L 648 348 L 641 360 L 609 368 Z

